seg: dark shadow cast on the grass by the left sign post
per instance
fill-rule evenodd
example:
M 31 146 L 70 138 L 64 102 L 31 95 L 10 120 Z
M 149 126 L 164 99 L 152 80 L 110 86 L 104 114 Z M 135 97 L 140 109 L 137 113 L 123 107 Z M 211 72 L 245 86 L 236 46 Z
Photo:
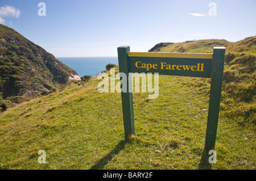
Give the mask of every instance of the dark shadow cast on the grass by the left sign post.
M 123 148 L 125 148 L 125 141 L 120 141 L 115 148 L 110 151 L 109 154 L 105 155 L 105 157 L 101 158 L 100 161 L 98 161 L 95 165 L 90 167 L 89 170 L 101 170 L 108 162 L 110 162 L 115 155 L 119 153 Z

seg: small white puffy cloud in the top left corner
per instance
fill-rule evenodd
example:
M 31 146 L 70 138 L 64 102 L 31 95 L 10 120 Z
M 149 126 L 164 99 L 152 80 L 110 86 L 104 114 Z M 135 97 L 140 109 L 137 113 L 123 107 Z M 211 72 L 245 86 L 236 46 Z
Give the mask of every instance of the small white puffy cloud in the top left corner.
M 0 7 L 0 23 L 5 24 L 4 18 L 19 18 L 20 10 L 16 9 L 13 6 L 1 6 Z

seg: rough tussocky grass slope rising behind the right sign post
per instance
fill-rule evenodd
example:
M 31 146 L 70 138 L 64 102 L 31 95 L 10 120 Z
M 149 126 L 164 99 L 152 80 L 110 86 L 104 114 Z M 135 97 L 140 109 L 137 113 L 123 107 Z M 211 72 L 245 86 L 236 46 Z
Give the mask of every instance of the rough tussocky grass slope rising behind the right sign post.
M 159 52 L 212 53 L 213 47 L 226 47 L 221 110 L 226 116 L 238 117 L 241 125 L 256 126 L 256 36 L 230 43 L 226 40 L 186 41 L 163 46 Z M 184 81 L 209 93 L 210 79 Z

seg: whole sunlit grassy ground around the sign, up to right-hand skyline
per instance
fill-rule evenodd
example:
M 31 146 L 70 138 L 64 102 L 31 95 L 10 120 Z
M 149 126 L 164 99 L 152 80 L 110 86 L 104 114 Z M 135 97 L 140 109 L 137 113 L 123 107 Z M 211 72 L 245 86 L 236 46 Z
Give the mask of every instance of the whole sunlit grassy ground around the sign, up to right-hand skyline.
M 1 113 L 1 169 L 255 169 L 255 37 L 158 50 L 212 53 L 216 43 L 227 48 L 216 164 L 204 153 L 209 79 L 159 75 L 157 99 L 133 93 L 136 135 L 128 141 L 121 94 L 98 92 L 97 77 Z M 39 150 L 46 164 L 38 163 Z

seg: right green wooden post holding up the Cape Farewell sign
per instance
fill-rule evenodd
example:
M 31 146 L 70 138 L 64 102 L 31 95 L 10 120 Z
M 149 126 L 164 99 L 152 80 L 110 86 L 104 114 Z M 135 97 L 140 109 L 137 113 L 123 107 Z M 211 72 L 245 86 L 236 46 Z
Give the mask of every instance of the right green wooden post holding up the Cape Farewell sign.
M 221 87 L 224 71 L 224 58 L 225 47 L 214 47 L 207 132 L 205 136 L 205 149 L 209 150 L 214 149 L 217 135 L 218 113 L 220 110 Z

